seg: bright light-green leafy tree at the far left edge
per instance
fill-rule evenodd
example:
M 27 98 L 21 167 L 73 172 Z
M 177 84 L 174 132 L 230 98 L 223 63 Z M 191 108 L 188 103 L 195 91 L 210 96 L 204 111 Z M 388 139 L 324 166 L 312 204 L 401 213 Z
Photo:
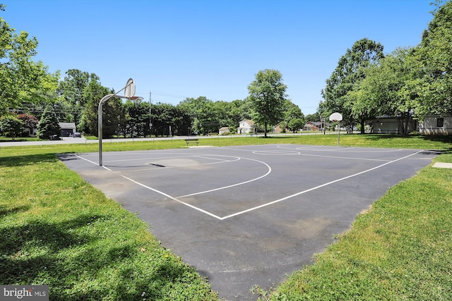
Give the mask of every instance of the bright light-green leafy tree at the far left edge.
M 47 101 L 48 95 L 54 92 L 59 71 L 48 73 L 42 61 L 32 61 L 37 44 L 37 39 L 29 38 L 28 32 L 16 34 L 0 18 L 0 113 L 23 103 Z

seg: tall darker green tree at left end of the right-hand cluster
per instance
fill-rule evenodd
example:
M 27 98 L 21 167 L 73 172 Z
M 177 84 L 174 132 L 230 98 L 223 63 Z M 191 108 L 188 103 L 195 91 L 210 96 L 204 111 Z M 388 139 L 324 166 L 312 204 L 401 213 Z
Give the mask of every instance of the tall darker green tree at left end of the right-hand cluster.
M 369 118 L 365 111 L 353 111 L 353 105 L 357 101 L 357 94 L 348 94 L 356 89 L 359 82 L 365 78 L 365 69 L 383 58 L 383 46 L 370 39 L 360 39 L 355 42 L 352 49 L 347 49 L 339 59 L 338 66 L 333 71 L 326 87 L 322 90 L 324 102 L 321 109 L 328 117 L 333 112 L 339 112 L 344 116 L 343 123 L 352 128 L 356 121 L 362 125 Z

